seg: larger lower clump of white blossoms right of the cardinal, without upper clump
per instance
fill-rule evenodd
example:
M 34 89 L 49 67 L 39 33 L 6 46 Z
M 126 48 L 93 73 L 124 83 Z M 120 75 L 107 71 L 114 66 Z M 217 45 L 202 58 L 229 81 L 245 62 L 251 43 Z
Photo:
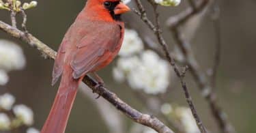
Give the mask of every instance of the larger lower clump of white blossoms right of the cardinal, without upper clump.
M 156 94 L 164 93 L 169 85 L 169 65 L 152 50 L 144 51 L 139 57 L 119 58 L 117 69 L 122 72 L 119 75 L 126 76 L 132 89 Z

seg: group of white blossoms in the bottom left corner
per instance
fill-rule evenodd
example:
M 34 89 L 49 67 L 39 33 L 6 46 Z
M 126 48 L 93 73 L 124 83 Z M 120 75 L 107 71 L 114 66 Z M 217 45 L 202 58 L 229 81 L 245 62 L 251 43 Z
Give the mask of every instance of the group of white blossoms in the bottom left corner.
M 10 130 L 10 128 L 18 128 L 21 125 L 30 126 L 33 124 L 33 111 L 31 108 L 25 106 L 24 104 L 14 105 L 15 98 L 10 93 L 5 93 L 0 95 L 0 131 Z M 14 118 L 10 119 L 8 113 L 13 113 Z M 12 126 L 11 126 L 12 125 Z

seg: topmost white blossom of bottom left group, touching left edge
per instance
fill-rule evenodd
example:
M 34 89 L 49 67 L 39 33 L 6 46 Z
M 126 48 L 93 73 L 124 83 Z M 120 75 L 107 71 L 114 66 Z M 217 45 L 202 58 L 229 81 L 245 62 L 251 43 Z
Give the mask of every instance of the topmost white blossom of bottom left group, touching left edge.
M 0 96 L 0 108 L 10 110 L 15 102 L 15 98 L 10 93 L 5 93 Z

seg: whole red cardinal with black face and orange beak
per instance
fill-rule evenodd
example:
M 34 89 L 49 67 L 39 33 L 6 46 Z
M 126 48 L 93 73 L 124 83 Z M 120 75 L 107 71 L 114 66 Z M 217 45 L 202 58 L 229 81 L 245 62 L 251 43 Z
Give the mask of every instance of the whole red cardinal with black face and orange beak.
M 55 101 L 41 133 L 63 133 L 83 77 L 115 58 L 124 38 L 120 15 L 130 8 L 120 0 L 88 0 L 68 29 L 53 67 L 54 85 L 61 76 Z

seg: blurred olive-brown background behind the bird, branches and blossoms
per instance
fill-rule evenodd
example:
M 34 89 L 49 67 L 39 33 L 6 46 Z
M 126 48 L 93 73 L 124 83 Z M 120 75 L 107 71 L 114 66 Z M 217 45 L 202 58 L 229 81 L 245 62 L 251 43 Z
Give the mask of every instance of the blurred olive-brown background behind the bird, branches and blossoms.
M 48 44 L 54 50 L 57 50 L 63 35 L 76 18 L 76 15 L 84 7 L 85 2 L 84 0 L 39 0 L 36 8 L 27 10 L 27 28 L 29 33 L 35 35 L 35 37 Z M 145 8 L 148 9 L 148 15 L 150 18 L 153 18 L 153 14 L 150 13 L 152 12 L 151 6 L 146 1 L 143 2 Z M 254 46 L 256 42 L 256 1 L 225 0 L 216 1 L 214 4 L 217 4 L 221 10 L 219 19 L 221 27 L 221 63 L 218 68 L 216 89 L 214 88 L 214 91 L 218 97 L 218 104 L 223 108 L 229 121 L 236 128 L 236 131 L 253 133 L 256 132 L 256 90 L 254 89 L 256 87 L 256 46 Z M 128 5 L 134 6 L 134 3 L 129 3 Z M 173 42 L 173 35 L 165 25 L 166 21 L 169 17 L 186 10 L 188 6 L 187 1 L 183 0 L 177 7 L 159 7 L 164 37 L 169 44 L 170 50 L 175 49 L 175 42 Z M 199 23 L 197 31 L 193 33 L 190 40 L 195 57 L 201 65 L 201 70 L 204 72 L 212 67 L 216 44 L 216 33 L 214 33 L 214 23 L 211 14 L 212 8 L 208 10 L 208 13 L 205 13 L 203 18 L 199 18 L 203 20 Z M 0 10 L 0 16 L 1 21 L 10 24 L 9 12 Z M 139 35 L 150 37 L 153 42 L 156 42 L 154 34 L 152 34 L 150 29 L 133 12 L 125 14 L 123 18 L 128 27 L 136 30 Z M 18 16 L 18 23 L 20 22 L 21 19 Z M 192 23 L 186 27 L 196 26 Z M 3 40 L 11 42 L 4 42 Z M 25 56 L 24 66 L 21 66 L 23 65 L 21 64 L 17 70 L 8 72 L 9 81 L 6 85 L 0 86 L 0 94 L 12 93 L 16 98 L 15 104 L 26 104 L 29 106 L 33 110 L 34 115 L 33 127 L 40 129 L 49 113 L 58 87 L 58 85 L 51 87 L 53 60 L 45 60 L 38 50 L 10 37 L 10 35 L 3 31 L 0 31 L 0 43 L 17 44 L 22 48 Z M 20 55 L 23 54 L 20 52 Z M 22 60 L 23 58 L 18 59 L 18 61 Z M 118 83 L 113 78 L 113 67 L 116 64 L 117 61 L 98 72 L 104 79 L 106 86 L 116 93 L 119 98 L 137 110 L 156 115 L 154 112 L 147 110 L 141 98 L 138 98 L 134 94 L 134 91 L 137 91 L 136 89 L 131 89 L 127 83 Z M 208 103 L 201 97 L 201 92 L 197 85 L 195 85 L 192 76 L 187 74 L 185 79 L 203 123 L 208 130 L 218 132 L 217 125 L 208 108 Z M 170 84 L 173 85 L 171 85 L 172 87 L 169 90 L 168 97 L 165 98 L 165 103 L 176 106 L 187 106 L 184 93 L 178 80 L 175 79 L 175 75 L 171 76 L 170 80 Z M 87 91 L 87 93 L 92 95 L 91 91 Z M 157 97 L 157 95 L 147 95 L 144 91 L 140 91 L 140 93 L 145 94 L 147 98 Z M 111 132 L 108 124 L 104 121 L 104 117 L 100 115 L 102 114 L 100 113 L 102 110 L 100 111 L 97 105 L 99 103 L 110 104 L 104 102 L 102 98 L 94 100 L 96 97 L 97 95 L 90 97 L 83 92 L 78 93 L 66 132 Z M 111 109 L 116 112 L 115 115 L 118 116 L 118 119 L 122 119 L 122 123 L 124 124 L 122 125 L 124 127 L 122 129 L 123 132 L 132 132 L 131 129 L 135 126 L 133 121 L 126 118 L 114 108 L 111 107 Z M 105 115 L 111 114 L 105 112 Z M 141 131 L 134 131 L 134 133 L 137 132 Z

